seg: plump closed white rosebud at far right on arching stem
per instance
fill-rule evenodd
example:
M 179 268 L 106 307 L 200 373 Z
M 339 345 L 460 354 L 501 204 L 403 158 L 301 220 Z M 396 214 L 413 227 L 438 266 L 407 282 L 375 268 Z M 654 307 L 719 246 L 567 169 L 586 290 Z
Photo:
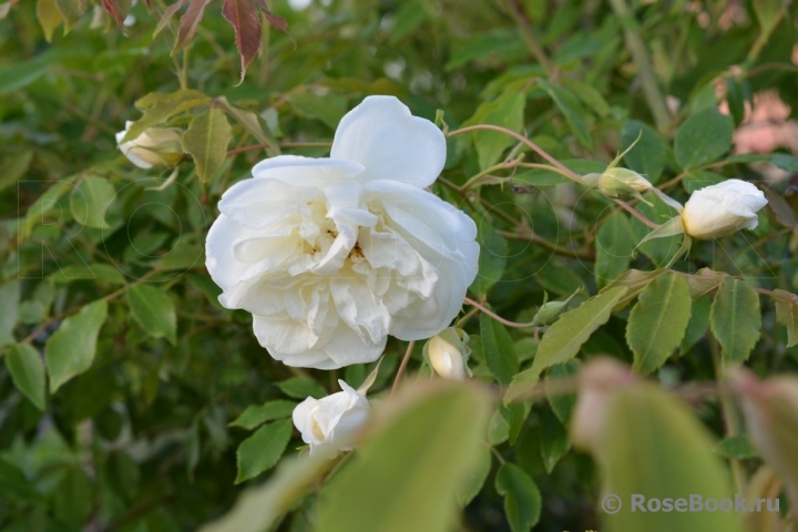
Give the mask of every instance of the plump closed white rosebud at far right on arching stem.
M 724 181 L 690 195 L 682 212 L 684 232 L 707 241 L 753 229 L 759 223 L 756 213 L 765 205 L 765 194 L 750 183 Z

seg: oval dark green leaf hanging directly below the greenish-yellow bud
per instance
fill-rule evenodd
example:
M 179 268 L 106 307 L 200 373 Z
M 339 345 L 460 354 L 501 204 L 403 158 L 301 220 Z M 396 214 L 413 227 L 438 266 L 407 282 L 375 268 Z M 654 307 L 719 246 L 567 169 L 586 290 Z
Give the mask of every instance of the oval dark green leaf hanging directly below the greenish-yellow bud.
M 635 239 L 624 213 L 612 214 L 596 233 L 595 278 L 601 288 L 628 269 Z

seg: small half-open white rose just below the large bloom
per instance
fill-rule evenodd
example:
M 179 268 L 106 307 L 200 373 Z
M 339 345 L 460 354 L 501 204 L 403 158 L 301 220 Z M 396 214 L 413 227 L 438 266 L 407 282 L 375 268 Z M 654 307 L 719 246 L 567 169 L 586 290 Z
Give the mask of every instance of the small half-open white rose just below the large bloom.
M 364 395 L 342 380 L 338 383 L 344 391 L 323 399 L 308 397 L 294 409 L 294 424 L 303 441 L 310 444 L 311 454 L 320 447 L 350 450 L 355 434 L 371 413 Z

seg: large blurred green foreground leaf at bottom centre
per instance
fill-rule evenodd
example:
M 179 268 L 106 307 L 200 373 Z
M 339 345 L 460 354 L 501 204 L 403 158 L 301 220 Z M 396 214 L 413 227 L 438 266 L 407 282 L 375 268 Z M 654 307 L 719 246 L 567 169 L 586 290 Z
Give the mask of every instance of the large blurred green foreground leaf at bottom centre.
M 318 532 L 447 532 L 454 524 L 457 493 L 483 456 L 490 397 L 443 380 L 402 391 L 323 492 Z

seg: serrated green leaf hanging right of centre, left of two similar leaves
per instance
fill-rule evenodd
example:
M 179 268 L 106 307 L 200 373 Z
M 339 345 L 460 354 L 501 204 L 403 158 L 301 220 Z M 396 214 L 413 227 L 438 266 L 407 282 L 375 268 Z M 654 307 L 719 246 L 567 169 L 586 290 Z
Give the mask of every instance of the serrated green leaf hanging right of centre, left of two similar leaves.
M 692 303 L 687 280 L 673 272 L 658 276 L 641 293 L 626 326 L 626 342 L 637 371 L 656 371 L 678 348 Z

